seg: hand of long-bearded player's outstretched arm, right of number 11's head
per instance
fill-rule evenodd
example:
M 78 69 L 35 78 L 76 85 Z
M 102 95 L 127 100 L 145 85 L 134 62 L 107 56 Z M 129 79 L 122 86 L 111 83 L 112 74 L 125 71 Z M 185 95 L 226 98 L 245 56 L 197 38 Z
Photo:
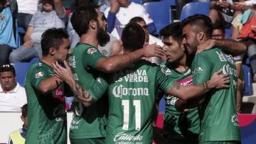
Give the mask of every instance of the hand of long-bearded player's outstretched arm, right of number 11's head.
M 164 50 L 156 43 L 145 45 L 143 48 L 144 57 L 164 57 Z

